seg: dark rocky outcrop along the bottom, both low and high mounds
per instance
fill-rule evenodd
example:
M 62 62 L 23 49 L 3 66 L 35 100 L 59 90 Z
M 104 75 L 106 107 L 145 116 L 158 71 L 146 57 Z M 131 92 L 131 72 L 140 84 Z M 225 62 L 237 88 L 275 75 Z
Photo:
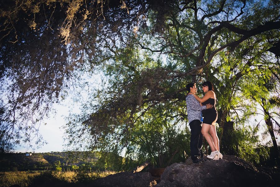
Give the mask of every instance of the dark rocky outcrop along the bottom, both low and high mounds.
M 163 169 L 163 168 L 162 168 Z M 279 174 L 279 173 L 278 173 Z M 277 175 L 275 173 L 275 175 Z M 280 179 L 280 176 L 278 177 Z M 159 184 L 147 172 L 121 172 L 95 180 L 90 186 L 96 187 L 208 187 L 208 186 L 273 186 L 274 180 L 265 170 L 258 170 L 254 165 L 230 155 L 224 155 L 219 161 L 208 160 L 193 164 L 186 162 L 168 166 L 161 175 Z M 276 179 L 276 180 L 275 180 Z

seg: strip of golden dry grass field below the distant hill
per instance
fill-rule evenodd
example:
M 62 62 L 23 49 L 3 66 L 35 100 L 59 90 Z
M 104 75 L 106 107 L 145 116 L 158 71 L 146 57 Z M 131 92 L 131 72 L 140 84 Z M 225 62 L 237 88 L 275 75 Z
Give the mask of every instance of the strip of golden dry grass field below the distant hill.
M 115 174 L 114 171 L 95 171 L 95 172 L 76 172 L 76 171 L 65 171 L 65 172 L 48 172 L 47 176 L 51 176 L 50 180 L 58 179 L 67 183 L 76 182 L 87 182 L 102 178 L 111 174 Z M 21 187 L 29 186 L 34 178 L 46 174 L 44 171 L 35 172 L 0 172 L 0 186 L 9 187 L 11 185 L 20 185 Z M 44 176 L 46 177 L 46 176 Z

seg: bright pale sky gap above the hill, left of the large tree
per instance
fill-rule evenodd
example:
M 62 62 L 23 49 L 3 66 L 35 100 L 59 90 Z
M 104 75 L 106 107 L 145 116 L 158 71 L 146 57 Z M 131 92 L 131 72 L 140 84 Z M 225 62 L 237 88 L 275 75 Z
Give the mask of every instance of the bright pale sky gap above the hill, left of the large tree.
M 101 83 L 101 74 L 97 75 L 84 75 L 84 80 L 89 83 L 90 88 L 83 88 L 80 91 L 80 96 L 82 97 L 81 102 L 85 102 L 88 99 L 88 94 L 90 93 L 90 89 L 94 89 L 99 86 Z M 82 103 L 75 102 L 73 99 L 73 95 L 68 95 L 67 98 L 60 101 L 60 103 L 54 103 L 53 109 L 56 113 L 50 113 L 49 117 L 46 118 L 39 127 L 39 133 L 42 135 L 44 141 L 47 144 L 44 144 L 38 149 L 33 150 L 26 144 L 21 144 L 20 146 L 15 147 L 15 152 L 51 152 L 51 151 L 64 151 L 67 150 L 67 147 L 63 146 L 64 140 L 64 129 L 62 128 L 68 122 L 66 117 L 69 116 L 70 113 L 80 113 Z M 35 145 L 35 144 L 33 144 Z

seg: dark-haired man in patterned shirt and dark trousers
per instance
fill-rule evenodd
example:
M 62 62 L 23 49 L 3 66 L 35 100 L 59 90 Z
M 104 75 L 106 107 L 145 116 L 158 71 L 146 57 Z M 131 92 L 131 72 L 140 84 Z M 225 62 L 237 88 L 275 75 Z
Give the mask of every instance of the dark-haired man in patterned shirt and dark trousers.
M 196 83 L 189 83 L 187 85 L 187 90 L 189 94 L 186 97 L 187 103 L 187 113 L 189 127 L 191 129 L 190 137 L 190 149 L 191 149 L 191 159 L 193 163 L 203 161 L 203 153 L 201 151 L 203 143 L 203 135 L 201 133 L 202 124 L 202 110 L 212 108 L 213 105 L 207 104 L 201 106 L 200 103 L 195 99 L 195 97 L 190 93 L 197 93 Z

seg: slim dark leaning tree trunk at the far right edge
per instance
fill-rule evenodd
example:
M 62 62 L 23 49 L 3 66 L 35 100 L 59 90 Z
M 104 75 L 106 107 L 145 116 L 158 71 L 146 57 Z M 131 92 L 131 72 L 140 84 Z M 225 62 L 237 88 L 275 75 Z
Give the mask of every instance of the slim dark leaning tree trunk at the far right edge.
M 280 165 L 280 153 L 279 153 L 279 148 L 277 145 L 277 141 L 273 132 L 273 123 L 271 121 L 271 116 L 268 112 L 268 110 L 266 110 L 263 106 L 262 106 L 263 110 L 264 110 L 264 114 L 267 116 L 267 118 L 265 119 L 265 124 L 268 128 L 268 131 L 270 133 L 271 139 L 272 139 L 272 143 L 273 143 L 273 149 L 274 149 L 274 154 L 275 154 L 275 159 L 276 162 L 278 164 L 278 166 Z

